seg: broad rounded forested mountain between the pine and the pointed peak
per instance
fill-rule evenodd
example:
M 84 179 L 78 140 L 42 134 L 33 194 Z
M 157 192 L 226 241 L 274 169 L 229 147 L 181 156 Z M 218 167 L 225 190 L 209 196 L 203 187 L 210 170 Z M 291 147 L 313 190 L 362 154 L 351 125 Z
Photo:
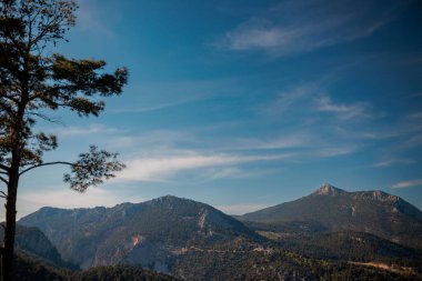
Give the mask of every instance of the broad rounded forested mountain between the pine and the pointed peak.
M 113 208 L 42 208 L 19 223 L 40 228 L 63 259 L 83 269 L 124 262 L 167 272 L 184 248 L 261 239 L 210 205 L 170 195 Z

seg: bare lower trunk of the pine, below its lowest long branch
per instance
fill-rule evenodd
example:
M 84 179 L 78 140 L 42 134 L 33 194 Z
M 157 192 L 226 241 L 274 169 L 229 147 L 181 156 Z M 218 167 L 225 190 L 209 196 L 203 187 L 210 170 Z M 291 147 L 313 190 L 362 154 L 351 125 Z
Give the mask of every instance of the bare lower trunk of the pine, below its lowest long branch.
M 13 252 L 14 232 L 17 219 L 17 194 L 18 194 L 19 171 L 10 172 L 8 184 L 8 198 L 6 203 L 6 229 L 3 250 L 3 281 L 13 280 Z

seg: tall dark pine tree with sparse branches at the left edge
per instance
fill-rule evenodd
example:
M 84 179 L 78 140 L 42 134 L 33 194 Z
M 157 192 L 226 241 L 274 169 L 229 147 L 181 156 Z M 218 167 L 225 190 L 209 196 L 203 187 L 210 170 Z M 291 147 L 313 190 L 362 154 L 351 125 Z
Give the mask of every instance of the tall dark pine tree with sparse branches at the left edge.
M 76 162 L 43 162 L 58 145 L 56 136 L 37 130 L 39 120 L 54 122 L 49 111 L 68 109 L 79 117 L 99 116 L 102 98 L 119 96 L 128 71 L 107 73 L 102 60 L 51 54 L 74 26 L 72 0 L 2 0 L 0 3 L 0 181 L 6 185 L 3 279 L 12 279 L 16 202 L 19 179 L 32 169 L 70 165 L 64 181 L 79 192 L 114 177 L 124 168 L 115 153 L 91 147 Z

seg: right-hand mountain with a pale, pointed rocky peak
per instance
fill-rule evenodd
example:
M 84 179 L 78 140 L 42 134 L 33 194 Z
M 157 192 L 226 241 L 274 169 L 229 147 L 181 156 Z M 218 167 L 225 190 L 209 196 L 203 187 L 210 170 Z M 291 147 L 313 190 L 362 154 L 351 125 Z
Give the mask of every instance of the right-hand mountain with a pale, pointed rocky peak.
M 308 197 L 238 218 L 262 231 L 305 231 L 313 225 L 312 231 L 362 231 L 422 249 L 422 212 L 382 191 L 346 192 L 323 184 Z

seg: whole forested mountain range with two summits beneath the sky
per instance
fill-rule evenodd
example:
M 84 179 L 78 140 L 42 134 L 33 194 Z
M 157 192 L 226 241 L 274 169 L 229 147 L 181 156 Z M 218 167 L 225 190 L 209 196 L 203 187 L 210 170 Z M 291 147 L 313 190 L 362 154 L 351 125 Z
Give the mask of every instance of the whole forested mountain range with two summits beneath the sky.
M 129 264 L 181 280 L 418 279 L 422 215 L 381 191 L 324 184 L 241 217 L 171 195 L 113 208 L 42 208 L 38 228 L 66 262 Z

